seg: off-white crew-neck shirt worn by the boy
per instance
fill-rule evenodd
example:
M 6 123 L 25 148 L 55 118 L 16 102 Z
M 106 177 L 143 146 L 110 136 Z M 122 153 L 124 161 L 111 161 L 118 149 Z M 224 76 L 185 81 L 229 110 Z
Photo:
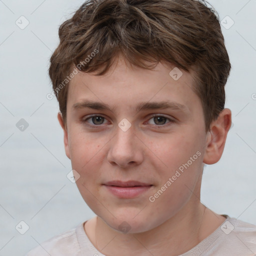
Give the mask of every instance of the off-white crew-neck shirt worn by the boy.
M 256 225 L 223 216 L 226 220 L 213 233 L 180 256 L 255 256 Z M 41 243 L 26 256 L 105 256 L 93 246 L 83 224 Z

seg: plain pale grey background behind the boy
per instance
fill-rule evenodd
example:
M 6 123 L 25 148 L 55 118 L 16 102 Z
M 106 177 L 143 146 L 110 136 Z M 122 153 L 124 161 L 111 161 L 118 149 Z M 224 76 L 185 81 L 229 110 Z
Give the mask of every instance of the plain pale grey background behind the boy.
M 0 255 L 24 255 L 94 215 L 66 177 L 71 164 L 57 101 L 46 98 L 58 25 L 82 2 L 0 0 Z M 209 2 L 225 27 L 232 22 L 226 15 L 234 21 L 222 26 L 232 64 L 226 107 L 234 125 L 220 161 L 205 167 L 201 200 L 219 214 L 256 224 L 256 0 Z M 15 24 L 21 15 L 29 21 L 24 29 Z M 16 127 L 21 118 L 28 123 L 24 131 Z M 21 220 L 29 226 L 23 235 L 15 229 Z

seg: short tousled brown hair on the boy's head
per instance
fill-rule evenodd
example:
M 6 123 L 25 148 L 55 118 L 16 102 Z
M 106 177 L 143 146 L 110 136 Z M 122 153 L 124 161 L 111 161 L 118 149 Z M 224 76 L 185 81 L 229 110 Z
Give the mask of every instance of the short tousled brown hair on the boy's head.
M 201 99 L 208 130 L 224 108 L 230 62 L 218 14 L 207 4 L 199 0 L 84 2 L 60 25 L 60 42 L 50 58 L 49 76 L 64 123 L 70 70 L 76 66 L 101 75 L 122 54 L 128 63 L 143 68 L 164 61 L 195 70 L 193 89 Z

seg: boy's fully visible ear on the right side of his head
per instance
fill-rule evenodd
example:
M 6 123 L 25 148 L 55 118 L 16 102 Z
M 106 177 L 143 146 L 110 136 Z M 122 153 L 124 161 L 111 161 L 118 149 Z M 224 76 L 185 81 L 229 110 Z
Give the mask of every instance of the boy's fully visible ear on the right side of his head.
M 203 162 L 206 164 L 216 163 L 224 150 L 227 132 L 231 126 L 231 111 L 224 108 L 218 118 L 211 122 L 210 130 L 206 134 L 206 145 Z

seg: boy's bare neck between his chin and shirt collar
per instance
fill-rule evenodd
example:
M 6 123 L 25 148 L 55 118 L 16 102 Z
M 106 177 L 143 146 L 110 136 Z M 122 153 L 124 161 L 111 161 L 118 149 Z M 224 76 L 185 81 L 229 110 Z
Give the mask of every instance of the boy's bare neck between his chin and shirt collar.
M 128 256 L 131 252 L 142 256 L 166 255 L 166 251 L 170 256 L 180 255 L 210 234 L 209 228 L 205 231 L 204 223 L 208 221 L 204 220 L 204 213 L 205 206 L 201 203 L 196 207 L 187 204 L 176 215 L 151 230 L 126 234 L 110 228 L 100 217 L 97 217 L 94 246 L 107 256 L 117 256 L 120 252 L 122 256 Z M 208 213 L 207 218 L 209 218 Z M 217 226 L 211 227 L 211 232 Z

